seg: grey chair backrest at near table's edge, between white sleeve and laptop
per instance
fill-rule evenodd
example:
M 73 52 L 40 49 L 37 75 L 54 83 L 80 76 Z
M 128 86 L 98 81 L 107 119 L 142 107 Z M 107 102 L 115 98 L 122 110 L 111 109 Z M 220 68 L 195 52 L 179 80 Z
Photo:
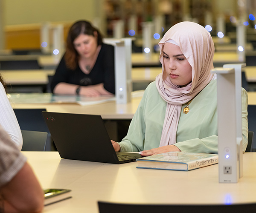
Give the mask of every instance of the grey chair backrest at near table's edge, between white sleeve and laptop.
M 21 151 L 45 151 L 47 132 L 21 130 L 23 146 Z

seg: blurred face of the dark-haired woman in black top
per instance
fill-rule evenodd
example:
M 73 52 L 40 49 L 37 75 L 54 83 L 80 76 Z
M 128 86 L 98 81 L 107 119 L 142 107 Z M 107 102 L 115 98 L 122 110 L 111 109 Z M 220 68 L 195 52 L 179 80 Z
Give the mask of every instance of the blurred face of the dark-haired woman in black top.
M 97 50 L 97 36 L 80 34 L 73 42 L 74 48 L 82 58 L 92 58 Z

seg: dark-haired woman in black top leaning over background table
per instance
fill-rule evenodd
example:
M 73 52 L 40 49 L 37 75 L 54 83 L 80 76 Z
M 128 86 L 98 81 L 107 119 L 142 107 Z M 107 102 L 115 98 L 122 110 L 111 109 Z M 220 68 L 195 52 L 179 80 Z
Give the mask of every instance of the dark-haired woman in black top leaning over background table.
M 89 97 L 115 93 L 114 47 L 103 43 L 99 30 L 89 22 L 81 20 L 71 26 L 51 89 L 55 94 Z

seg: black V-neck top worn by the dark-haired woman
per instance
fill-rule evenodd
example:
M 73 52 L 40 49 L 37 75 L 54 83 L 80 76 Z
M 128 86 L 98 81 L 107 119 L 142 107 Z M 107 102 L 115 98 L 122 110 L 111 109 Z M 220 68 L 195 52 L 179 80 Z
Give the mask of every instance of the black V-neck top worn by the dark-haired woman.
M 104 88 L 115 94 L 115 70 L 114 70 L 114 47 L 102 43 L 98 58 L 89 74 L 85 74 L 77 64 L 75 70 L 67 68 L 64 57 L 62 57 L 55 75 L 52 78 L 51 90 L 60 83 L 71 83 L 80 86 L 96 85 L 104 83 Z

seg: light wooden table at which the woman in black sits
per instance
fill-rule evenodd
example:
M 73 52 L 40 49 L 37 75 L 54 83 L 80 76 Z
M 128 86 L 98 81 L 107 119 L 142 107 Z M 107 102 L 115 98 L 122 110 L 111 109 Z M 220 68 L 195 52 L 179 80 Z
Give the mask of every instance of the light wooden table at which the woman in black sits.
M 140 92 L 141 93 L 141 92 Z M 10 94 L 10 95 L 19 95 L 19 94 Z M 24 95 L 21 93 L 21 99 L 24 98 Z M 44 97 L 45 95 L 45 97 Z M 73 96 L 76 99 L 76 96 Z M 88 102 L 94 102 L 94 104 L 87 104 L 81 106 L 78 102 L 74 100 L 74 98 L 57 98 L 59 100 L 54 103 L 50 103 L 51 98 L 49 94 L 33 94 L 27 93 L 27 97 L 25 97 L 28 101 L 13 101 L 12 97 L 10 102 L 14 109 L 47 109 L 49 112 L 64 112 L 64 113 L 77 113 L 77 114 L 92 114 L 92 115 L 101 115 L 103 119 L 106 120 L 118 120 L 118 119 L 127 119 L 131 120 L 134 116 L 134 113 L 137 110 L 137 107 L 140 103 L 142 94 L 135 96 L 132 98 L 131 102 L 127 104 L 116 104 L 116 101 L 111 100 L 111 98 L 107 98 L 107 100 L 99 100 L 95 101 L 94 98 L 87 98 Z M 16 97 L 15 97 L 16 98 Z M 40 98 L 39 101 L 38 98 Z M 16 98 L 17 99 L 17 98 Z M 44 103 L 44 99 L 46 102 Z M 84 101 L 84 99 L 83 99 Z M 86 102 L 86 101 L 84 101 Z

